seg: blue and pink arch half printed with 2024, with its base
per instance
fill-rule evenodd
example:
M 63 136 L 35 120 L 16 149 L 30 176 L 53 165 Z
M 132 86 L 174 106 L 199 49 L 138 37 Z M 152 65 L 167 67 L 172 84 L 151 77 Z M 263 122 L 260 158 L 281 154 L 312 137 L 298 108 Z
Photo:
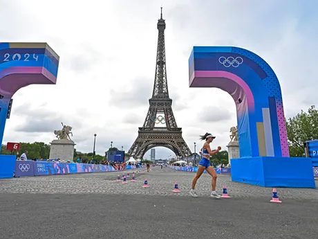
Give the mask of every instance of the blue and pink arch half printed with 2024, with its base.
M 46 43 L 0 43 L 0 142 L 12 96 L 32 84 L 56 84 L 59 56 Z M 0 155 L 1 158 L 11 157 Z M 12 163 L 6 163 L 6 165 Z M 9 170 L 9 171 L 8 171 Z M 13 174 L 1 163 L 1 175 Z M 6 173 L 4 172 L 6 171 Z

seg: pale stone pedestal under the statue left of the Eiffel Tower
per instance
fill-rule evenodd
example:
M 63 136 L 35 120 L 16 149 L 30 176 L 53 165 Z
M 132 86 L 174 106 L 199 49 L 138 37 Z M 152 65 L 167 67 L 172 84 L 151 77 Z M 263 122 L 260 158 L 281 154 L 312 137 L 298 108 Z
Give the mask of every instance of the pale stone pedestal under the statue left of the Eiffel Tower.
M 74 146 L 74 141 L 68 139 L 53 140 L 50 143 L 50 159 L 73 162 Z

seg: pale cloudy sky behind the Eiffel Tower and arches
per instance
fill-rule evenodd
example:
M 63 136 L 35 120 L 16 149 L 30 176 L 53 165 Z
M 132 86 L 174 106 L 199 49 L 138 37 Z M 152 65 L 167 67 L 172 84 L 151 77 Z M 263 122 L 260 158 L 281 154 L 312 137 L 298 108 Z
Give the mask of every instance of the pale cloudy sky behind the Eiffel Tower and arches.
M 57 85 L 31 85 L 13 97 L 3 143 L 49 143 L 63 122 L 73 126 L 78 151 L 93 151 L 95 133 L 97 153 L 111 141 L 129 150 L 152 94 L 161 5 L 169 94 L 191 150 L 205 132 L 226 148 L 236 125 L 225 91 L 189 88 L 193 46 L 239 46 L 263 57 L 281 82 L 288 117 L 317 104 L 315 0 L 0 0 L 0 42 L 48 42 L 60 56 Z

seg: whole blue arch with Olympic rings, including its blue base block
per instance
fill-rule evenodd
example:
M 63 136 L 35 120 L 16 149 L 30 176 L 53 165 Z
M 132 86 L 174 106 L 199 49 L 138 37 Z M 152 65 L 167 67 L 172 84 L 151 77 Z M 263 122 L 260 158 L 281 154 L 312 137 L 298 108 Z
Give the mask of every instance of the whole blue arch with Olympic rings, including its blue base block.
M 311 160 L 289 157 L 281 87 L 261 57 L 237 47 L 194 46 L 189 86 L 222 89 L 236 104 L 241 158 L 231 159 L 232 181 L 315 188 Z

